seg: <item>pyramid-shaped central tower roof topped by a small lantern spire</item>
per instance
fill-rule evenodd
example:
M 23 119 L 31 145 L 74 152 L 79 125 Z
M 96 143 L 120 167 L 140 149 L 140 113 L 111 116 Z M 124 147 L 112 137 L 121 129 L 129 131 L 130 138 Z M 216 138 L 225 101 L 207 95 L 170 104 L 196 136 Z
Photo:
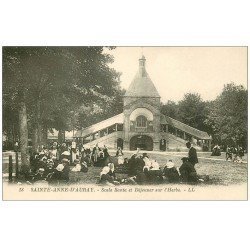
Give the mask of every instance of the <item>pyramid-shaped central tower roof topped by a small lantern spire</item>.
M 160 97 L 154 83 L 152 82 L 146 71 L 145 63 L 141 64 L 142 61 L 146 61 L 144 56 L 139 59 L 139 70 L 136 73 L 133 81 L 131 82 L 128 90 L 126 91 L 125 96 Z

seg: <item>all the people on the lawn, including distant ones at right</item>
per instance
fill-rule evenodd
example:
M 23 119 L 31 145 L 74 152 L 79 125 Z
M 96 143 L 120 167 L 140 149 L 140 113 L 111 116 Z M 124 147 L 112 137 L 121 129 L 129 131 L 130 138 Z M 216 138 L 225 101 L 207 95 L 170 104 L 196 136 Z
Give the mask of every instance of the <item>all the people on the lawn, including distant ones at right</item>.
M 180 166 L 176 166 L 172 159 L 160 166 L 156 159 L 151 159 L 147 153 L 140 153 L 139 149 L 130 158 L 124 158 L 121 148 L 117 149 L 115 156 L 111 156 L 105 145 L 100 147 L 96 144 L 91 149 L 74 141 L 62 144 L 52 142 L 31 156 L 31 171 L 27 182 L 69 183 L 70 173 L 78 182 L 78 173 L 87 173 L 90 167 L 101 168 L 97 181 L 101 185 L 203 182 L 204 177 L 198 176 L 195 169 L 198 163 L 196 149 L 190 142 L 186 146 L 189 149 L 188 156 L 181 159 Z M 219 154 L 220 147 L 216 145 L 212 155 Z M 227 148 L 228 161 L 241 162 L 243 156 L 244 150 L 241 147 Z

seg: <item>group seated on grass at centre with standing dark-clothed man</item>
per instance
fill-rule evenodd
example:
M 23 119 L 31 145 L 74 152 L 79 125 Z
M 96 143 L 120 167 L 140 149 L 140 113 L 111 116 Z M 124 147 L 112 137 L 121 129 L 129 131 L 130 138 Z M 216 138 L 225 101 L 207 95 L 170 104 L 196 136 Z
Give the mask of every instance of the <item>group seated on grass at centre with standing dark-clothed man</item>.
M 125 158 L 122 173 L 126 172 L 126 178 L 120 178 L 120 171 L 116 171 L 114 164 L 109 163 L 103 167 L 100 173 L 99 184 L 120 185 L 120 184 L 160 184 L 160 183 L 197 183 L 204 181 L 197 175 L 195 164 L 198 163 L 197 152 L 191 143 L 186 146 L 189 148 L 188 157 L 183 157 L 180 167 L 176 167 L 170 159 L 165 166 L 161 167 L 157 160 L 150 159 L 147 153 L 140 154 L 139 150 L 131 156 Z M 121 150 L 117 150 L 116 155 Z

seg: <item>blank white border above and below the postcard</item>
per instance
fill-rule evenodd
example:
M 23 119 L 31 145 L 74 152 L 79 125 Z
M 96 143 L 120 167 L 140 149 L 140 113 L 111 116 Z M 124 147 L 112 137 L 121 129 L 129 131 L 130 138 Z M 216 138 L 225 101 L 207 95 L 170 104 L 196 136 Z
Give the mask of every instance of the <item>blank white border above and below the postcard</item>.
M 1 1 L 1 45 L 249 45 L 248 1 Z M 249 202 L 1 202 L 10 249 L 249 248 Z M 247 247 L 248 246 L 248 247 Z

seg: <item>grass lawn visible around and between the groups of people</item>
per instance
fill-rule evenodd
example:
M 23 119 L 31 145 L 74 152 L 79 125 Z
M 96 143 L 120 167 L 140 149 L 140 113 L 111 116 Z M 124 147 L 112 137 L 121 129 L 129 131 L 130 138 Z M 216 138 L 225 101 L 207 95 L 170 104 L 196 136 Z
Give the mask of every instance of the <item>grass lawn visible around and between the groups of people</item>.
M 111 155 L 114 153 L 111 151 Z M 125 152 L 124 157 L 130 158 L 132 152 Z M 181 158 L 187 156 L 187 152 L 148 152 L 152 159 L 156 159 L 160 166 L 164 166 L 169 159 L 172 159 L 176 166 L 181 166 Z M 225 153 L 221 156 L 211 156 L 208 152 L 198 152 L 199 163 L 195 165 L 199 175 L 208 175 L 208 184 L 231 185 L 247 183 L 247 156 L 245 163 L 234 163 L 225 161 Z M 89 168 L 88 173 L 79 173 L 80 184 L 95 184 L 101 169 L 97 167 Z M 8 163 L 3 162 L 2 172 L 8 173 Z M 70 174 L 70 179 L 74 179 L 74 173 Z

